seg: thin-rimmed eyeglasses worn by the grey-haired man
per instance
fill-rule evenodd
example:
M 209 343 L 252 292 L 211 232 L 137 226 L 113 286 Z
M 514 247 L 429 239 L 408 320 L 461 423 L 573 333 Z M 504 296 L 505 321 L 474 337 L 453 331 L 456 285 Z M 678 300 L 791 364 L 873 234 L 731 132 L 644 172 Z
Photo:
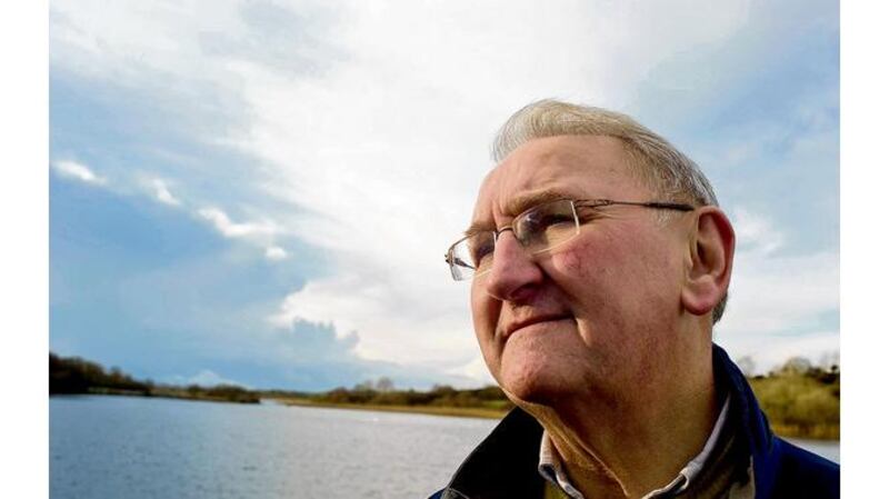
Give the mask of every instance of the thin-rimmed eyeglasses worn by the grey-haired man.
M 615 204 L 653 208 L 659 210 L 692 211 L 691 204 L 676 202 L 612 201 L 610 199 L 558 199 L 538 204 L 512 219 L 508 227 L 471 233 L 448 248 L 444 261 L 456 281 L 472 279 L 491 270 L 493 248 L 500 234 L 512 231 L 516 240 L 529 255 L 538 255 L 565 244 L 580 233 L 580 226 L 591 218 L 579 216 L 578 209 L 598 209 Z

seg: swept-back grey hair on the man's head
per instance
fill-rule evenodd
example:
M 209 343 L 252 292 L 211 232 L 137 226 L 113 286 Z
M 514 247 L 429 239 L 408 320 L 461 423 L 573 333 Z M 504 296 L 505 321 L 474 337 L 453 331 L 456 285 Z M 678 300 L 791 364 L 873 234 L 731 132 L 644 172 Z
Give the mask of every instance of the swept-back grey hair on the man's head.
M 523 143 L 546 137 L 603 136 L 625 144 L 633 170 L 668 201 L 719 206 L 700 168 L 665 138 L 619 112 L 557 100 L 531 102 L 512 114 L 495 138 L 491 153 L 503 161 Z M 713 308 L 713 323 L 726 310 L 728 293 Z

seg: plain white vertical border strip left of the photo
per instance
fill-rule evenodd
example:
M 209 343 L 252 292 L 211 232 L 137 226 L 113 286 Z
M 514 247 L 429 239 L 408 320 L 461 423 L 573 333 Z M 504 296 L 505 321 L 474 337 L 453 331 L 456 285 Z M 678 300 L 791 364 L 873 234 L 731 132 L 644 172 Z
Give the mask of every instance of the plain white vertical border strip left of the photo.
M 49 496 L 48 13 L 41 0 L 0 8 L 4 497 Z

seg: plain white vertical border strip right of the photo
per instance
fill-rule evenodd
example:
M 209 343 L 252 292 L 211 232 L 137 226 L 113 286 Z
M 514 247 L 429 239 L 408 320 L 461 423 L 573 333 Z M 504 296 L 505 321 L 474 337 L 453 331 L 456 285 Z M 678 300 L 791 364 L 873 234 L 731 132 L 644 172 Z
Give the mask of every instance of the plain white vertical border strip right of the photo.
M 885 489 L 887 417 L 886 7 L 840 4 L 840 343 L 842 496 Z

